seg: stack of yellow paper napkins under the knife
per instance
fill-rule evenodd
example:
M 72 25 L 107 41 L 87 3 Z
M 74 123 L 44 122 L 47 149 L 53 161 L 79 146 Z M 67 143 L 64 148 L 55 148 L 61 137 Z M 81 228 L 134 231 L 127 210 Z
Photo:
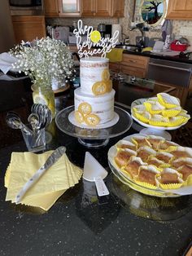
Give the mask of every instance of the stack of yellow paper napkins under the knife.
M 16 194 L 23 188 L 24 183 L 46 162 L 52 152 L 49 151 L 42 154 L 12 152 L 11 163 L 5 175 L 6 201 L 15 203 Z M 67 155 L 64 154 L 26 192 L 21 204 L 49 210 L 59 196 L 79 182 L 81 175 L 82 170 L 72 165 Z

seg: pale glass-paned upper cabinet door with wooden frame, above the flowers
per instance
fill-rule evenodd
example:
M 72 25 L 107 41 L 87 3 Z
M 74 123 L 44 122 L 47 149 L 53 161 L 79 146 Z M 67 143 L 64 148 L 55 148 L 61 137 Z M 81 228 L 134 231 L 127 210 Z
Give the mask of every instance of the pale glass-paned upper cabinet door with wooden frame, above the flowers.
M 80 0 L 58 0 L 59 16 L 76 17 L 81 15 Z

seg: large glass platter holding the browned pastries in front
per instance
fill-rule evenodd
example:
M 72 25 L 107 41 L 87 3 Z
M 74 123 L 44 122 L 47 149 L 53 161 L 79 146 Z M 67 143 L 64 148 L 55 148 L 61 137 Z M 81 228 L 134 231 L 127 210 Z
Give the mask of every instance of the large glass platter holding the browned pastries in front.
M 135 135 L 129 135 L 125 137 L 123 140 L 131 141 L 131 138 Z M 120 168 L 116 166 L 116 163 L 114 161 L 114 157 L 116 156 L 117 149 L 116 145 L 112 146 L 108 151 L 108 164 L 111 168 L 111 171 L 113 174 L 116 175 L 120 181 L 126 185 L 128 185 L 130 188 L 133 188 L 137 192 L 142 192 L 143 194 L 146 194 L 148 196 L 159 196 L 159 197 L 177 197 L 177 196 L 186 196 L 192 194 L 192 186 L 187 187 L 181 187 L 178 189 L 169 189 L 169 190 L 163 190 L 161 188 L 145 188 L 140 184 L 137 184 L 133 181 L 133 179 L 130 179 L 128 175 L 125 175 L 122 171 L 120 171 Z

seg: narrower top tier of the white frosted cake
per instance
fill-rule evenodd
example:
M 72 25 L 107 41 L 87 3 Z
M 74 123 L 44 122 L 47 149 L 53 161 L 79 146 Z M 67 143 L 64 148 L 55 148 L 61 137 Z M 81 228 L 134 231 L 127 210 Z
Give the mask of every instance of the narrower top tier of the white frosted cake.
M 102 82 L 103 73 L 109 73 L 109 60 L 101 57 L 82 58 L 80 60 L 81 90 L 87 95 L 94 95 L 95 82 Z

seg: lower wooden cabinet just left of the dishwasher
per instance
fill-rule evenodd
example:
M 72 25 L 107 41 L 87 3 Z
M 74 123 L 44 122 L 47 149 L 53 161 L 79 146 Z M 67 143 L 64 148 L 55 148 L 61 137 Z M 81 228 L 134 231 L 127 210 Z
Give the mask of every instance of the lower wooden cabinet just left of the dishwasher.
M 140 55 L 123 54 L 120 64 L 120 72 L 145 78 L 148 69 L 149 58 Z

